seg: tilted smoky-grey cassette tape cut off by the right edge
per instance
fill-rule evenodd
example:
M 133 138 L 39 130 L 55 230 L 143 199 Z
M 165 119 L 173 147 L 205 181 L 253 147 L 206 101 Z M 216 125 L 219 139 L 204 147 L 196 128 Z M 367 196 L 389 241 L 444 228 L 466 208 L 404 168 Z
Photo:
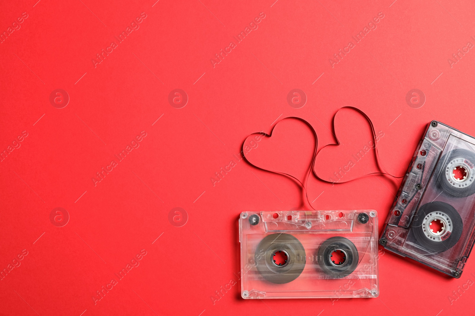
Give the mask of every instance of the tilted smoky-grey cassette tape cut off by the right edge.
M 409 164 L 380 244 L 460 278 L 474 245 L 475 138 L 432 121 Z

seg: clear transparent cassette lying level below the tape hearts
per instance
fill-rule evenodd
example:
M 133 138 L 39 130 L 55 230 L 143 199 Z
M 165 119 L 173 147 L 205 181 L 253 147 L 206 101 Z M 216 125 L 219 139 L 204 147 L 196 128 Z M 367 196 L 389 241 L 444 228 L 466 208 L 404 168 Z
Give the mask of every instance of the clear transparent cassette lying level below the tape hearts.
M 242 298 L 379 295 L 374 210 L 243 212 Z

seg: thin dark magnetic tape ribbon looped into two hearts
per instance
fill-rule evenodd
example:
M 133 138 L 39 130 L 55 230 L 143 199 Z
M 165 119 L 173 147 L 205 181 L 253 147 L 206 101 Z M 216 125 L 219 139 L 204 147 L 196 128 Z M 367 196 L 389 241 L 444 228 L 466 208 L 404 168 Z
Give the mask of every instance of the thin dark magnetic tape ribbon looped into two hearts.
M 387 172 L 387 171 L 384 169 L 384 167 L 381 165 L 381 163 L 380 163 L 380 157 L 379 157 L 379 153 L 378 153 L 378 146 L 377 146 L 377 143 L 376 143 L 376 131 L 375 131 L 375 129 L 374 129 L 374 125 L 373 125 L 373 123 L 371 122 L 370 117 L 368 117 L 368 115 L 366 115 L 366 113 L 364 113 L 364 112 L 363 112 L 362 110 L 360 110 L 359 108 L 355 108 L 355 107 L 351 107 L 351 106 L 346 106 L 346 107 L 339 108 L 339 109 L 336 111 L 335 115 L 333 116 L 333 126 L 332 126 L 333 135 L 335 135 L 334 120 L 335 120 L 336 114 L 337 114 L 341 109 L 343 109 L 343 108 L 350 108 L 350 109 L 352 109 L 352 110 L 355 110 L 356 112 L 358 112 L 359 114 L 361 114 L 361 115 L 368 121 L 368 123 L 370 124 L 370 126 L 371 126 L 371 133 L 372 133 L 373 141 L 374 141 L 374 144 L 375 144 L 375 145 L 374 145 L 374 150 L 375 150 L 375 153 L 376 153 L 376 162 L 377 162 L 377 166 L 378 166 L 378 169 L 379 169 L 380 172 L 371 172 L 371 173 L 365 174 L 365 175 L 363 175 L 363 176 L 361 176 L 361 177 L 358 177 L 358 178 L 355 178 L 355 179 L 352 179 L 352 180 L 349 180 L 349 181 L 341 182 L 341 183 L 351 182 L 351 181 L 358 180 L 358 179 L 361 179 L 361 178 L 366 177 L 366 176 L 369 176 L 369 175 L 377 175 L 377 174 L 380 174 L 380 175 L 388 175 L 388 176 L 390 176 L 390 177 L 392 177 L 392 178 L 397 178 L 397 179 L 403 178 L 404 175 L 402 175 L 402 176 L 395 176 L 395 175 L 390 174 L 390 173 Z M 315 144 L 314 144 L 314 146 L 315 146 L 315 149 L 314 149 L 314 153 L 313 153 L 312 163 L 311 163 L 310 167 L 308 168 L 308 170 L 307 170 L 306 173 L 305 173 L 304 182 L 300 181 L 299 179 L 297 179 L 296 177 L 294 177 L 293 175 L 291 175 L 291 174 L 289 174 L 289 173 L 279 172 L 279 171 L 276 171 L 276 170 L 267 170 L 267 169 L 258 167 L 258 166 L 256 166 L 255 164 L 253 164 L 253 163 L 251 163 L 250 161 L 247 160 L 246 154 L 244 154 L 244 158 L 246 159 L 247 163 L 249 163 L 250 165 L 252 165 L 253 167 L 255 167 L 255 168 L 257 168 L 257 169 L 260 169 L 260 170 L 266 171 L 266 172 L 272 172 L 272 173 L 280 174 L 280 175 L 283 175 L 283 176 L 285 176 L 285 177 L 287 177 L 287 178 L 290 178 L 290 179 L 292 179 L 293 181 L 295 181 L 295 182 L 300 186 L 300 188 L 303 190 L 303 192 L 305 193 L 305 198 L 306 198 L 307 203 L 310 205 L 311 208 L 313 208 L 314 210 L 316 210 L 316 209 L 312 206 L 312 203 L 310 203 L 310 200 L 309 200 L 309 198 L 308 198 L 307 188 L 306 188 L 306 187 L 307 187 L 307 183 L 308 183 L 308 178 L 310 177 L 310 174 L 313 172 L 314 176 L 315 176 L 318 180 L 323 181 L 323 182 L 326 182 L 326 183 L 333 183 L 333 184 L 334 184 L 334 183 L 337 183 L 337 182 L 336 182 L 336 181 L 323 180 L 323 179 L 320 178 L 320 177 L 317 175 L 317 173 L 315 172 L 314 164 L 315 164 L 315 159 L 316 159 L 316 157 L 317 157 L 318 137 L 317 137 L 317 133 L 316 133 L 315 130 L 314 130 L 314 127 L 313 127 L 309 122 L 307 122 L 306 120 L 304 120 L 304 119 L 301 118 L 301 117 L 284 117 L 284 118 L 282 118 L 281 120 L 279 120 L 279 121 L 277 122 L 277 124 L 278 124 L 279 122 L 285 120 L 285 119 L 296 119 L 296 120 L 299 120 L 299 121 L 303 122 L 305 125 L 307 125 L 307 126 L 310 128 L 310 130 L 312 131 L 312 133 L 313 133 L 313 135 L 314 135 L 314 139 L 315 139 Z M 276 125 L 277 125 L 277 124 L 276 124 Z M 275 126 L 276 126 L 276 125 L 275 125 Z M 272 128 L 272 131 L 270 132 L 270 135 L 269 135 L 269 134 L 266 134 L 266 133 L 264 133 L 264 134 L 265 134 L 267 137 L 271 137 L 271 136 L 272 136 L 272 132 L 273 132 L 275 126 Z M 251 135 L 255 135 L 255 134 L 260 134 L 260 135 L 262 135 L 262 133 L 253 133 L 253 134 L 251 134 Z M 251 135 L 249 135 L 249 136 L 251 136 Z M 249 137 L 249 136 L 248 136 L 248 137 Z M 325 147 L 327 147 L 327 146 L 331 146 L 331 145 L 339 145 L 339 144 L 340 144 L 340 141 L 338 140 L 338 137 L 335 136 L 335 138 L 336 138 L 337 144 L 328 144 L 328 145 L 324 146 L 323 148 L 325 148 Z M 246 153 L 246 151 L 244 151 L 244 145 L 245 145 L 245 142 L 243 142 L 243 144 L 242 144 L 242 146 L 241 146 L 241 150 L 243 151 L 243 153 Z M 323 148 L 322 148 L 322 149 L 323 149 Z M 322 149 L 320 149 L 320 150 L 322 150 Z

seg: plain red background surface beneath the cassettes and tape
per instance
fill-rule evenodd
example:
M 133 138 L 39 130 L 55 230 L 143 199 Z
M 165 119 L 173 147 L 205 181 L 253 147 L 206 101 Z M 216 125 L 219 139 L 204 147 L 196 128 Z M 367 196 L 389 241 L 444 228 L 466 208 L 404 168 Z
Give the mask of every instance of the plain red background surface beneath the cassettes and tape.
M 302 117 L 320 150 L 336 143 L 337 110 L 353 106 L 384 133 L 381 163 L 397 174 L 430 120 L 475 134 L 475 52 L 448 62 L 475 44 L 472 1 L 225 2 L 1 3 L 2 33 L 23 12 L 28 18 L 0 44 L 0 150 L 23 131 L 28 136 L 0 163 L 0 269 L 23 249 L 28 255 L 0 281 L 0 315 L 471 313 L 475 260 L 456 280 L 387 252 L 379 298 L 250 301 L 240 298 L 238 282 L 213 301 L 240 271 L 239 213 L 301 204 L 294 182 L 244 160 L 213 186 L 211 177 L 235 160 L 247 135 L 270 133 L 277 118 Z M 142 12 L 140 28 L 94 65 Z M 258 28 L 213 68 L 210 59 L 261 12 Z M 332 67 L 333 54 L 379 12 L 377 28 Z M 302 108 L 287 103 L 295 88 L 306 94 Z M 406 103 L 413 88 L 425 94 L 420 108 Z M 49 101 L 56 89 L 69 95 L 65 108 Z M 169 104 L 173 89 L 186 91 L 185 107 Z M 322 172 L 337 171 L 341 157 L 371 140 L 367 123 L 353 115 L 336 116 L 335 134 L 349 147 L 322 152 Z M 96 172 L 142 131 L 140 147 L 95 185 Z M 313 145 L 301 134 L 289 144 L 274 159 L 287 166 L 311 159 L 298 154 Z M 367 159 L 346 179 L 374 168 Z M 317 209 L 375 209 L 381 230 L 399 182 L 367 176 L 332 186 L 312 176 L 308 194 Z M 57 207 L 70 216 L 66 226 L 50 222 Z M 184 226 L 168 219 L 176 207 L 188 214 Z M 142 249 L 140 265 L 95 304 L 96 291 Z

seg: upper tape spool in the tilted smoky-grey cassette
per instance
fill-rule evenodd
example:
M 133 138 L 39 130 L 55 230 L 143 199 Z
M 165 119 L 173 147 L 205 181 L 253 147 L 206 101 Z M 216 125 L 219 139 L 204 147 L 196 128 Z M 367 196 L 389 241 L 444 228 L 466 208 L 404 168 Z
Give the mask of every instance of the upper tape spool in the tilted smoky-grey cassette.
M 438 186 L 447 194 L 464 198 L 475 193 L 475 153 L 454 149 L 440 159 Z M 436 173 L 436 174 L 437 174 Z

